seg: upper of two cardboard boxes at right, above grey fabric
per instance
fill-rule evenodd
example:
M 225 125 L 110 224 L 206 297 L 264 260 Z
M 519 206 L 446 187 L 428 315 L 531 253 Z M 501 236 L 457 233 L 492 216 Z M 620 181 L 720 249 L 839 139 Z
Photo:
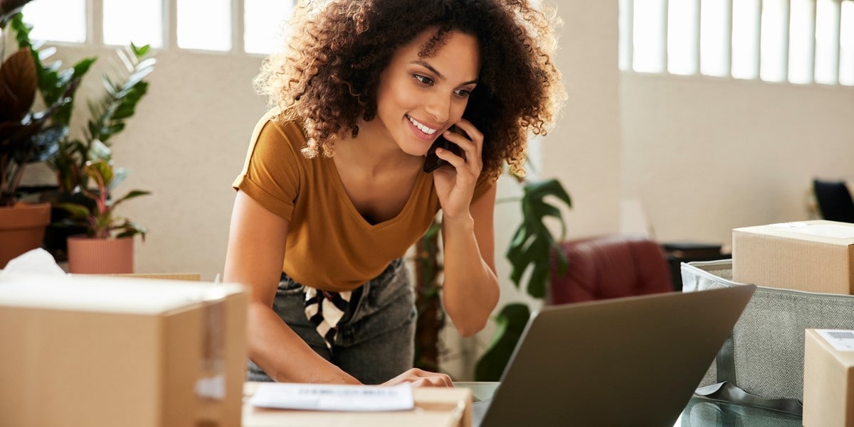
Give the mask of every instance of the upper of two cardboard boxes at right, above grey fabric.
M 783 222 L 733 230 L 733 280 L 854 294 L 854 224 Z

